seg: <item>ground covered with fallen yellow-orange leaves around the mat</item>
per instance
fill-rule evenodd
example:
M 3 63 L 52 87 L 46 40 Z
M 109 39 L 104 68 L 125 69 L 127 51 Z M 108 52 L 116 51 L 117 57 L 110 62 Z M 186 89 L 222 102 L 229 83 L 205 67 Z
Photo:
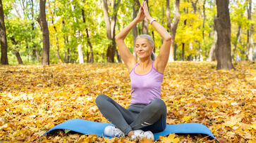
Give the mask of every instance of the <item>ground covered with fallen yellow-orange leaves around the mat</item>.
M 167 123 L 202 123 L 226 142 L 256 142 L 256 64 L 217 71 L 216 62 L 173 62 L 164 72 L 161 99 Z M 71 118 L 107 122 L 95 97 L 130 104 L 123 64 L 9 65 L 0 67 L 0 142 L 128 142 L 63 130 L 44 132 Z M 215 142 L 204 135 L 169 135 L 157 142 Z M 144 141 L 148 142 L 148 141 Z

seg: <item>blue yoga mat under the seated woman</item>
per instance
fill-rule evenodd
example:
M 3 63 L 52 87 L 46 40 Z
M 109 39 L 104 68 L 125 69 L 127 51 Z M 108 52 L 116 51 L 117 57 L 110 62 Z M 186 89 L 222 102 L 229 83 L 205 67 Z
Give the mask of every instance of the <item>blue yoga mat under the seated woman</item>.
M 51 130 L 66 129 L 66 130 L 72 130 L 75 132 L 80 132 L 83 134 L 95 134 L 95 135 L 98 135 L 99 137 L 107 137 L 107 136 L 104 136 L 104 128 L 107 125 L 112 125 L 112 124 L 98 123 L 94 121 L 83 120 L 80 118 L 74 118 L 54 126 L 54 128 L 51 128 L 50 130 L 45 132 L 44 135 L 46 135 Z M 166 125 L 166 129 L 164 131 L 154 133 L 154 139 L 155 140 L 159 139 L 159 136 L 169 135 L 170 133 L 206 134 L 216 139 L 214 135 L 212 135 L 212 132 L 209 130 L 209 128 L 207 128 L 207 126 L 205 125 L 202 125 L 201 123 L 181 123 L 176 125 Z

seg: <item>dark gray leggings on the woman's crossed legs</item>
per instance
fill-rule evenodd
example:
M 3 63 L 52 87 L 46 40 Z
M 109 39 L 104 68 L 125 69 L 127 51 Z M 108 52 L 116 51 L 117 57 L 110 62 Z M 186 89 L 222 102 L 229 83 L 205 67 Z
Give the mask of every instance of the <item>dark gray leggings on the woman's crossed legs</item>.
M 103 116 L 125 135 L 131 130 L 161 132 L 166 128 L 166 105 L 161 99 L 150 104 L 133 104 L 128 109 L 106 95 L 98 95 L 95 102 Z

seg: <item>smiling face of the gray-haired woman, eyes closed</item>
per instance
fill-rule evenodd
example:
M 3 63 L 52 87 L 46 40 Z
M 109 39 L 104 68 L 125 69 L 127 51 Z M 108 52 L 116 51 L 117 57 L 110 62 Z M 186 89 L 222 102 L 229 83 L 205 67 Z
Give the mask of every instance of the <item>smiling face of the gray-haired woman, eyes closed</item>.
M 147 39 L 139 38 L 135 41 L 135 52 L 140 59 L 150 58 L 153 49 Z

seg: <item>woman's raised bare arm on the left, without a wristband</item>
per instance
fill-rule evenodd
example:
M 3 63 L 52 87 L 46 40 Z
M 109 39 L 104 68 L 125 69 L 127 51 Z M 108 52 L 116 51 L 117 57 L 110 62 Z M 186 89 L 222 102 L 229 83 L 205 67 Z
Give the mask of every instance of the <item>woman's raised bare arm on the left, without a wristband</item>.
M 123 62 L 126 64 L 126 67 L 128 67 L 129 72 L 133 69 L 133 67 L 136 64 L 136 59 L 133 56 L 132 53 L 130 53 L 130 50 L 126 46 L 126 43 L 124 43 L 124 39 L 126 39 L 127 34 L 130 32 L 130 29 L 135 27 L 135 25 L 144 20 L 145 15 L 143 13 L 142 6 L 140 7 L 140 11 L 137 15 L 137 18 L 135 18 L 132 22 L 130 22 L 129 25 L 127 25 L 121 32 L 119 32 L 116 36 L 116 45 L 118 46 L 119 53 L 121 55 L 121 58 Z

